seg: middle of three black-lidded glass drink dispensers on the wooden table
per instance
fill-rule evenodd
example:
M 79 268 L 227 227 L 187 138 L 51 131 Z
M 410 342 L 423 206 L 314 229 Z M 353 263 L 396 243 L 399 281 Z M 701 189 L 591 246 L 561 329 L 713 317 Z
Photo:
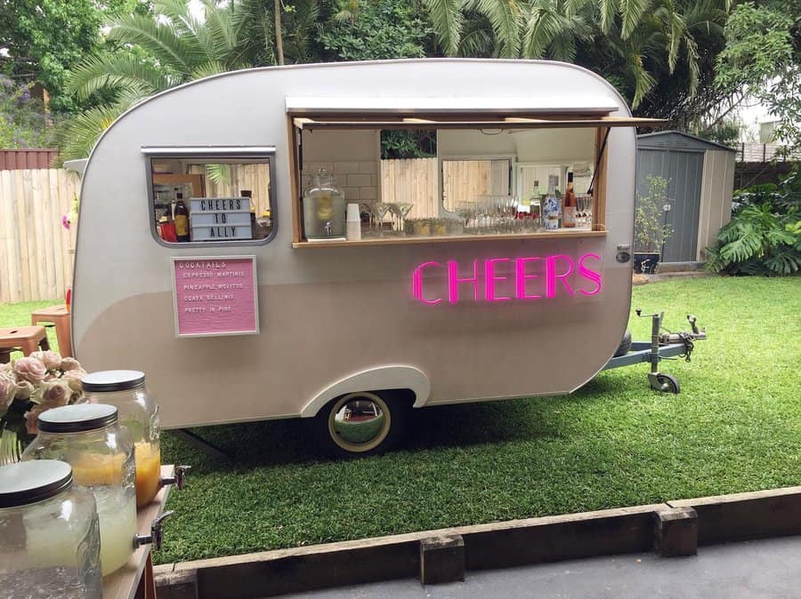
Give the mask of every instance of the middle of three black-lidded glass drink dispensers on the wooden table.
M 117 408 L 104 403 L 66 405 L 39 415 L 39 434 L 22 460 L 58 459 L 72 467 L 75 483 L 93 492 L 100 523 L 103 576 L 134 553 L 136 490 L 134 443 L 120 427 Z

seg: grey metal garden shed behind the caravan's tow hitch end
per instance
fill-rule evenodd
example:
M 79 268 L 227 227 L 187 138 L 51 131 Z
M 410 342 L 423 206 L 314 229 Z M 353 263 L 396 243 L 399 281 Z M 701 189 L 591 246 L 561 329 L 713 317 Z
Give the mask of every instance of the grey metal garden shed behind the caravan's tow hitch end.
M 674 234 L 665 243 L 662 263 L 705 260 L 704 249 L 732 217 L 734 155 L 713 141 L 678 131 L 637 136 L 637 196 L 648 193 L 648 176 L 667 180 Z

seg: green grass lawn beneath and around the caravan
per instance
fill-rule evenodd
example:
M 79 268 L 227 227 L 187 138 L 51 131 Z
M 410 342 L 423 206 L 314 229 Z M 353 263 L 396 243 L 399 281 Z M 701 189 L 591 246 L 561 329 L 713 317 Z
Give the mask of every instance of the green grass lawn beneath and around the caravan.
M 194 469 L 158 562 L 801 484 L 801 277 L 643 285 L 635 307 L 707 327 L 692 363 L 664 363 L 680 395 L 643 363 L 570 396 L 417 411 L 401 451 L 340 462 L 299 420 L 198 429 L 234 465 L 165 433 L 164 462 Z

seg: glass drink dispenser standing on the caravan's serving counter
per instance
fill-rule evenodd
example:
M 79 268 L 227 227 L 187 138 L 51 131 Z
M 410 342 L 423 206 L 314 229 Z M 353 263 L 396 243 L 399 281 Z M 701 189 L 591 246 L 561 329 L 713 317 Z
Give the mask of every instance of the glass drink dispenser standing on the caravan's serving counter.
M 312 176 L 303 191 L 303 231 L 309 241 L 344 239 L 344 193 L 325 169 Z

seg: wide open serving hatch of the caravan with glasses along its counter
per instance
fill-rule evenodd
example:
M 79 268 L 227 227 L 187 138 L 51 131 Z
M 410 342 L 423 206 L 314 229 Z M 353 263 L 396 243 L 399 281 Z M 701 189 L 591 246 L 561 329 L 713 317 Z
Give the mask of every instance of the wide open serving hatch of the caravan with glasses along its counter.
M 476 119 L 306 112 L 289 118 L 296 136 L 294 247 L 312 241 L 398 244 L 604 235 L 604 149 L 610 128 L 653 124 L 603 115 Z M 382 160 L 382 132 L 399 130 L 433 130 L 436 155 Z M 333 212 L 356 204 L 359 231 L 328 217 L 328 228 L 315 221 L 326 211 L 317 210 L 308 190 L 321 169 L 342 196 L 336 196 Z M 565 211 L 569 178 L 570 210 Z M 354 220 L 357 209 L 350 210 Z

